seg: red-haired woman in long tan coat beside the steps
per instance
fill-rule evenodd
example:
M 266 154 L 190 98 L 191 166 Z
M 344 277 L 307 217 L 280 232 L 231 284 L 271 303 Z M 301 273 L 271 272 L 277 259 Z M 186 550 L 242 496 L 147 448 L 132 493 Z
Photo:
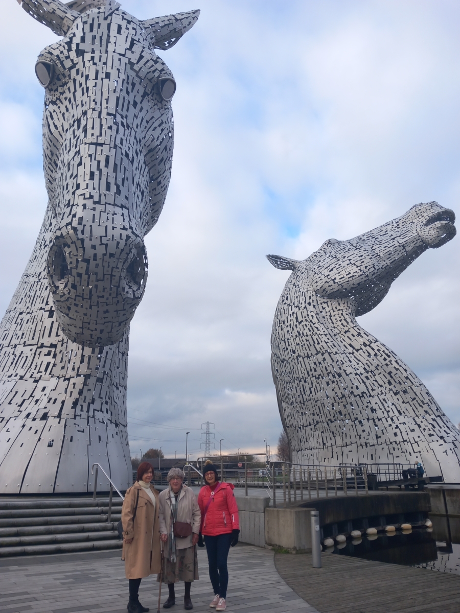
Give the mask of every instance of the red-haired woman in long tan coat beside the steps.
M 152 478 L 151 464 L 140 463 L 137 468 L 137 481 L 127 490 L 121 508 L 121 559 L 125 560 L 126 579 L 129 580 L 128 613 L 148 611 L 147 607 L 143 607 L 139 602 L 140 580 L 161 570 L 159 501 L 158 492 L 150 483 Z

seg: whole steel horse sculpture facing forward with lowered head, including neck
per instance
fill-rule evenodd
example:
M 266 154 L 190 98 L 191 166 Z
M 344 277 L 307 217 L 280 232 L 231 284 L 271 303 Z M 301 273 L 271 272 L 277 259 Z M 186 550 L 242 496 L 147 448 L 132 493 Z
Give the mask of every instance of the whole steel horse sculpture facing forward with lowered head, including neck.
M 176 84 L 155 50 L 199 11 L 141 21 L 115 0 L 18 2 L 63 38 L 35 66 L 48 207 L 0 326 L 0 493 L 85 492 L 93 462 L 126 489 L 129 322 L 174 145 Z

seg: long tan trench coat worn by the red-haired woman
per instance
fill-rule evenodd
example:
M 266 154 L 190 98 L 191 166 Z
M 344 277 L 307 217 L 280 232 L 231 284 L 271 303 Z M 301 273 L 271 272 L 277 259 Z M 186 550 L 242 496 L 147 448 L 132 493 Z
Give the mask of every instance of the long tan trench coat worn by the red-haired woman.
M 136 505 L 138 490 L 139 501 L 133 526 L 132 514 Z M 121 524 L 123 525 L 123 555 L 121 560 L 125 560 L 126 579 L 141 579 L 142 577 L 148 577 L 150 574 L 159 573 L 161 570 L 159 495 L 153 485 L 150 485 L 150 491 L 156 498 L 155 512 L 150 496 L 137 481 L 127 490 L 121 508 Z M 125 539 L 130 538 L 132 538 L 132 542 L 125 543 Z

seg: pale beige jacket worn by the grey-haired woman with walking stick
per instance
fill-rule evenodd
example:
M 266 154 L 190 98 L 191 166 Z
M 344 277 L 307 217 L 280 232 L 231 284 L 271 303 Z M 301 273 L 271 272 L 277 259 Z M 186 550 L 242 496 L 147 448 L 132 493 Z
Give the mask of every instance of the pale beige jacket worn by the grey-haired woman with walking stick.
M 196 496 L 190 487 L 182 485 L 180 490 L 179 500 L 177 501 L 177 521 L 191 524 L 192 533 L 196 535 L 200 531 L 201 525 L 201 511 L 198 506 Z M 169 487 L 159 494 L 159 531 L 162 535 L 171 531 L 171 490 Z M 175 548 L 186 549 L 191 547 L 192 536 L 186 536 L 186 538 L 176 538 Z

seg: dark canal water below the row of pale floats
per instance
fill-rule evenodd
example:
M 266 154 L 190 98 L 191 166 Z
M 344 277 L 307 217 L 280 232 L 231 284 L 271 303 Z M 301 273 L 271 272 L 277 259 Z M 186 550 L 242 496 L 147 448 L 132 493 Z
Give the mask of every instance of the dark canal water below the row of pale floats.
M 460 575 L 460 518 L 430 516 L 430 519 L 432 528 L 349 538 L 347 543 L 335 544 L 334 550 L 330 547 L 326 551 Z

